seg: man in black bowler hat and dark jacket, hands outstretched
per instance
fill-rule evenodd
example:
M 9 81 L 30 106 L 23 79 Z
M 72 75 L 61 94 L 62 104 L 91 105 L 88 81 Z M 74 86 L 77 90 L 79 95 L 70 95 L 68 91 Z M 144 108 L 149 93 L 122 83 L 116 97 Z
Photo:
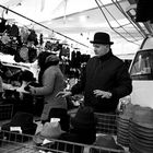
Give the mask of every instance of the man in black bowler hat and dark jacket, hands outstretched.
M 83 92 L 85 106 L 93 107 L 96 113 L 115 114 L 119 98 L 132 92 L 130 74 L 126 63 L 113 54 L 109 34 L 97 32 L 91 43 L 95 56 L 87 61 L 80 81 L 71 91 L 59 92 L 57 97 Z

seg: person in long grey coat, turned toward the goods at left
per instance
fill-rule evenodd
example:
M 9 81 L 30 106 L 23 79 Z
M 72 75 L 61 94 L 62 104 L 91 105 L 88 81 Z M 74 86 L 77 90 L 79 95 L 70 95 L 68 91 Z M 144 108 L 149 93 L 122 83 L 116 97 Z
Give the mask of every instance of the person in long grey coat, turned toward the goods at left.
M 38 56 L 40 68 L 38 87 L 30 85 L 33 95 L 44 96 L 44 109 L 40 116 L 42 122 L 50 121 L 50 118 L 60 118 L 61 129 L 69 130 L 69 117 L 67 114 L 67 99 L 56 97 L 57 93 L 66 87 L 64 76 L 59 68 L 59 58 L 51 52 L 43 51 Z

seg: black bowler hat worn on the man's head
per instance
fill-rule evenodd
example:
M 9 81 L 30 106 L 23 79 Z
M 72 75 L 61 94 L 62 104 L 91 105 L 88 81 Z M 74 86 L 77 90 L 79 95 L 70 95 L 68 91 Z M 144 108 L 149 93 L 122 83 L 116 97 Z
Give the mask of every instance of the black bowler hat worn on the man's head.
M 107 33 L 95 33 L 94 40 L 91 40 L 92 44 L 106 44 L 113 45 L 114 43 L 110 42 L 110 36 Z

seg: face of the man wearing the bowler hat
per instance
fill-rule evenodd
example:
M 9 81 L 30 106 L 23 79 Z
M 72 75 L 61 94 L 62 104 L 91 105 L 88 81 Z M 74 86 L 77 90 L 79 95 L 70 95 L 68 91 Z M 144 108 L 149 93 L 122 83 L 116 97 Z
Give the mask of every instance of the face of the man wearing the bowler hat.
M 93 44 L 94 52 L 96 56 L 101 57 L 109 51 L 109 45 Z

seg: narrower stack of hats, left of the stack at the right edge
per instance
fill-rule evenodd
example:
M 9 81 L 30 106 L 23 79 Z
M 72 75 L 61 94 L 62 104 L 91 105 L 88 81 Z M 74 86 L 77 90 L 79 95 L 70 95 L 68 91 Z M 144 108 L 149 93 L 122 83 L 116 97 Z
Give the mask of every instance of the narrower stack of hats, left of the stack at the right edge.
M 129 121 L 132 118 L 134 105 L 128 103 L 122 114 L 117 118 L 117 142 L 129 146 Z

